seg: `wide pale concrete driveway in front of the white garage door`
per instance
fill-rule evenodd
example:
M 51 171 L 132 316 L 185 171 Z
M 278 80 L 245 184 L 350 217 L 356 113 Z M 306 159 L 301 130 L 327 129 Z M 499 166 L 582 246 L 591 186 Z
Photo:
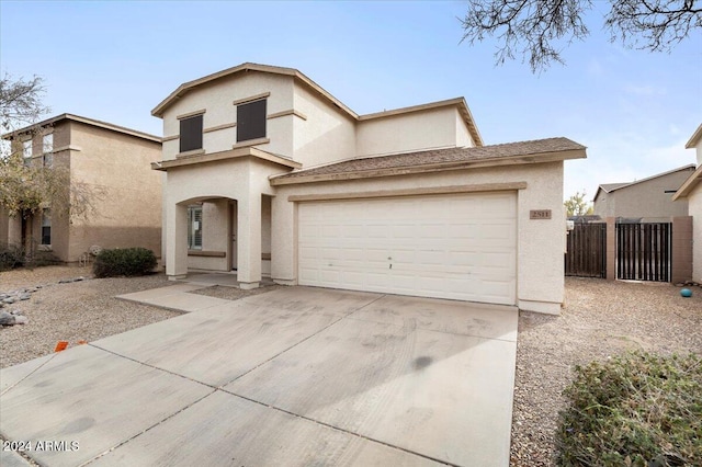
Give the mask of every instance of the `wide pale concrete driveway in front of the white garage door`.
M 516 308 L 192 288 L 161 301 L 206 307 L 2 369 L 2 436 L 49 466 L 509 464 Z

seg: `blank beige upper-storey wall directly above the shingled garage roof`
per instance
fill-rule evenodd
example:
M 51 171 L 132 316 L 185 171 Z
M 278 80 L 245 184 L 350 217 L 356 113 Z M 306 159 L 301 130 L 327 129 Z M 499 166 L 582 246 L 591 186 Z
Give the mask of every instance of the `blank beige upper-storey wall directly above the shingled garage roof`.
M 455 106 L 434 107 L 386 117 L 362 119 L 356 125 L 356 155 L 381 156 L 457 146 Z M 462 138 L 465 141 L 465 137 Z

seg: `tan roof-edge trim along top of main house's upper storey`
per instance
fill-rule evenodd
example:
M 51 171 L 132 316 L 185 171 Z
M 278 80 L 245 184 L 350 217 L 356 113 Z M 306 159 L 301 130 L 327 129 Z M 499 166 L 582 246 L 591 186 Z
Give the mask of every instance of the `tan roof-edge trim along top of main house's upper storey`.
M 329 92 L 327 92 L 319 84 L 317 84 L 312 79 L 309 79 L 308 77 L 306 77 L 305 75 L 303 75 L 302 72 L 299 72 L 294 68 L 273 67 L 270 65 L 260 65 L 260 64 L 251 64 L 251 62 L 241 64 L 236 67 L 227 68 L 226 70 L 217 71 L 216 73 L 207 75 L 206 77 L 202 77 L 196 80 L 182 83 L 181 86 L 178 87 L 178 89 L 176 89 L 176 91 L 171 92 L 168 95 L 168 98 L 166 98 L 156 107 L 154 107 L 154 110 L 151 111 L 151 115 L 162 118 L 163 112 L 170 105 L 172 105 L 177 100 L 181 99 L 191 90 L 199 88 L 211 81 L 218 80 L 220 78 L 225 78 L 235 73 L 247 72 L 247 71 L 259 71 L 259 72 L 273 73 L 273 75 L 291 76 L 295 79 L 298 79 L 301 82 L 312 88 L 315 92 L 317 92 L 322 98 L 327 99 L 329 102 L 331 102 L 333 105 L 339 107 L 341 111 L 343 111 L 346 114 L 348 114 L 351 118 L 355 121 L 383 118 L 383 117 L 388 117 L 388 116 L 394 116 L 394 115 L 399 115 L 399 114 L 405 114 L 410 112 L 423 111 L 427 109 L 455 105 L 458 107 L 458 112 L 461 113 L 461 116 L 466 123 L 468 130 L 471 132 L 471 137 L 475 141 L 475 145 L 483 146 L 483 138 L 480 137 L 480 133 L 478 132 L 477 126 L 475 125 L 475 121 L 473 119 L 473 114 L 471 114 L 471 110 L 468 109 L 468 105 L 466 104 L 465 99 L 463 98 L 432 102 L 423 105 L 414 105 L 409 107 L 395 109 L 386 112 L 377 112 L 377 113 L 367 114 L 367 115 L 359 115 L 355 112 L 353 112 L 351 109 L 349 109 L 346 104 L 343 104 L 341 101 L 339 101 L 337 98 L 335 98 Z

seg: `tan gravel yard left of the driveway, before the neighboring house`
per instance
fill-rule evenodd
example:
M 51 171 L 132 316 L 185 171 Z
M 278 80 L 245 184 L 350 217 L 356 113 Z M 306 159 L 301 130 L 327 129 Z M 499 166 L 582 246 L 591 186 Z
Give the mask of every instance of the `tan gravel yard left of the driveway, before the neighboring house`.
M 49 354 L 58 341 L 75 345 L 80 340 L 94 341 L 179 315 L 114 298 L 172 285 L 162 274 L 58 283 L 81 276 L 90 277 L 90 267 L 46 266 L 0 273 L 0 292 L 42 286 L 29 300 L 2 308 L 21 311 L 30 322 L 1 327 L 0 367 Z

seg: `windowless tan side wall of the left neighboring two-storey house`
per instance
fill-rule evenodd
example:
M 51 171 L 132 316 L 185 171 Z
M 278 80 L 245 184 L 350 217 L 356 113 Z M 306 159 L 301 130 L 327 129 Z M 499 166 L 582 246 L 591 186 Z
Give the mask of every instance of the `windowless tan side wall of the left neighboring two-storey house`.
M 93 244 L 143 247 L 160 255 L 161 175 L 150 163 L 161 159 L 161 145 L 72 121 L 61 126 L 70 127 L 70 149 L 58 157 L 70 153 L 71 183 L 95 194 L 95 209 L 87 219 L 73 219 L 67 236 L 56 232 L 57 240 L 69 239 L 66 249 L 53 244 L 59 258 L 78 261 Z

